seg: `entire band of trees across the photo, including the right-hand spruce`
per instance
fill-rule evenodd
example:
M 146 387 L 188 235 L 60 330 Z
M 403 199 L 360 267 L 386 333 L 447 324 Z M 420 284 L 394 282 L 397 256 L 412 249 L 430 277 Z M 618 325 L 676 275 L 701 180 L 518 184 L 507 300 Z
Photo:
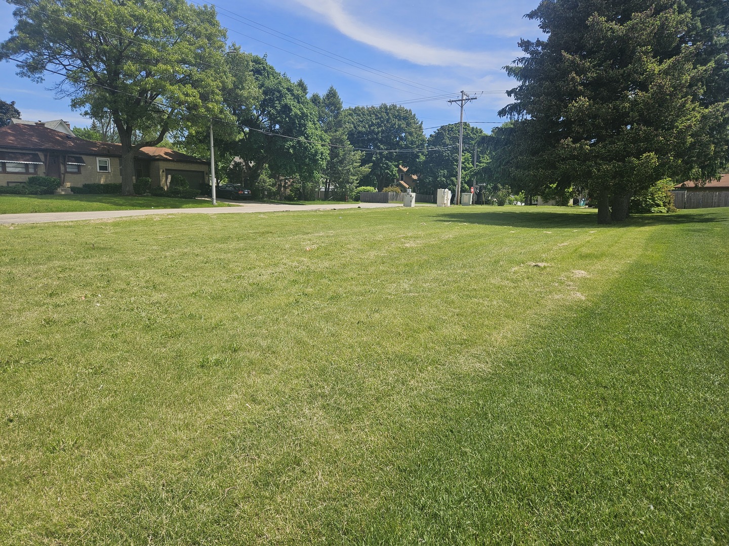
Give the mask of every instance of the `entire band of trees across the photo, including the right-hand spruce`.
M 58 91 L 95 120 L 79 133 L 122 144 L 127 194 L 136 149 L 171 138 L 206 157 L 211 125 L 217 171 L 259 197 L 381 190 L 398 165 L 418 174 L 416 191 L 455 189 L 456 124 L 426 139 L 408 108 L 343 108 L 333 87 L 309 95 L 265 57 L 230 49 L 211 7 L 11 2 L 17 24 L 0 58 L 36 80 L 46 69 L 65 76 Z M 528 17 L 547 39 L 522 40 L 525 55 L 506 68 L 520 82 L 499 113 L 509 121 L 490 135 L 464 124 L 466 183 L 527 198 L 580 188 L 609 222 L 667 179 L 706 181 L 725 167 L 727 1 L 543 0 Z

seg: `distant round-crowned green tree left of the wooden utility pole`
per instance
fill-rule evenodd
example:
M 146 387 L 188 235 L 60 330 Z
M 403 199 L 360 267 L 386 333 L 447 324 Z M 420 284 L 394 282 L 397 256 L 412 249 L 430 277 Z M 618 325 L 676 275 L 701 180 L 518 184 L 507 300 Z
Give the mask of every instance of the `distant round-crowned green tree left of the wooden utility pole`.
M 418 172 L 425 148 L 423 124 L 404 106 L 355 106 L 343 115 L 349 124 L 348 140 L 354 148 L 372 150 L 362 162 L 372 163 L 364 183 L 383 187 L 397 178 L 397 166 Z M 413 151 L 414 150 L 414 151 Z

